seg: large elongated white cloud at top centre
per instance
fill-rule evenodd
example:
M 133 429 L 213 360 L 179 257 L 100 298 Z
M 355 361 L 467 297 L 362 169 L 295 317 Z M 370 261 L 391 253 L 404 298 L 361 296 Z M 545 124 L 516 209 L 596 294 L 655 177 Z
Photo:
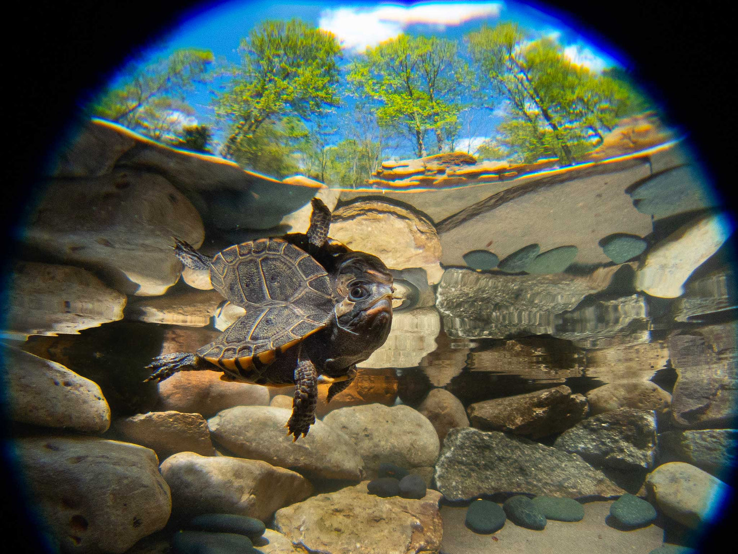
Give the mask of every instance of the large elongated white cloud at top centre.
M 410 24 L 429 24 L 442 30 L 446 25 L 459 25 L 470 19 L 497 17 L 502 7 L 501 2 L 429 2 L 410 7 L 380 4 L 370 9 L 339 7 L 323 11 L 319 27 L 336 35 L 343 48 L 362 52 L 396 37 Z

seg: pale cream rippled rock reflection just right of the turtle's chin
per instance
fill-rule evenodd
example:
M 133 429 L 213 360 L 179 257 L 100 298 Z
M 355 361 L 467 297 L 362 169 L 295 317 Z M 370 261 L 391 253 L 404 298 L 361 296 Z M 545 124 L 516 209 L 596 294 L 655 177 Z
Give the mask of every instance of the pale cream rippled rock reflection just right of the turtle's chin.
M 424 355 L 436 348 L 441 318 L 435 308 L 397 312 L 387 341 L 359 367 L 415 367 Z

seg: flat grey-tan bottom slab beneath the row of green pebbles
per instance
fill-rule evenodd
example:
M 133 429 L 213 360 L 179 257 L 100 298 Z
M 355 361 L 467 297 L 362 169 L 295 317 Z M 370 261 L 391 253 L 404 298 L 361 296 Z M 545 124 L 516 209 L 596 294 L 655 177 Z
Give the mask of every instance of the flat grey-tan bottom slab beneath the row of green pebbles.
M 610 502 L 584 505 L 584 519 L 551 521 L 542 531 L 518 527 L 512 521 L 493 535 L 478 535 L 464 525 L 466 507 L 441 506 L 444 554 L 648 554 L 663 545 L 663 529 L 654 524 L 621 531 L 605 523 Z M 495 541 L 494 538 L 497 538 Z

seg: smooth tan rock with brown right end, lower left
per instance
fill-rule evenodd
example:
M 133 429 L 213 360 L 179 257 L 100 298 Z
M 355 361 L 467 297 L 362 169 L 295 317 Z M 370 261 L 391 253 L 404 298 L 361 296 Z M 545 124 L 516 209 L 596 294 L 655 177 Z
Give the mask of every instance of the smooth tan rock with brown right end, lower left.
M 306 499 L 312 485 L 300 473 L 258 459 L 179 452 L 162 462 L 172 491 L 172 516 L 232 513 L 267 521 L 280 507 Z

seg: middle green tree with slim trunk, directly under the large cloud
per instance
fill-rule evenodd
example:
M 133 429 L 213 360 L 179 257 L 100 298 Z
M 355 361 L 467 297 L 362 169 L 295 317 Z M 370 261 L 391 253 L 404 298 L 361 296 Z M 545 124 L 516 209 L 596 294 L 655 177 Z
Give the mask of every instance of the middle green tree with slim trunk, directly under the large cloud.
M 348 83 L 357 98 L 376 100 L 379 125 L 404 133 L 420 157 L 429 131 L 439 152 L 455 137 L 468 77 L 455 41 L 400 35 L 367 49 L 351 65 Z

